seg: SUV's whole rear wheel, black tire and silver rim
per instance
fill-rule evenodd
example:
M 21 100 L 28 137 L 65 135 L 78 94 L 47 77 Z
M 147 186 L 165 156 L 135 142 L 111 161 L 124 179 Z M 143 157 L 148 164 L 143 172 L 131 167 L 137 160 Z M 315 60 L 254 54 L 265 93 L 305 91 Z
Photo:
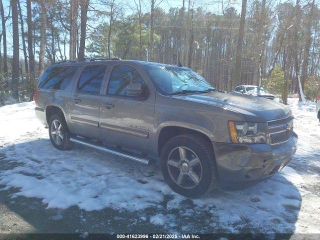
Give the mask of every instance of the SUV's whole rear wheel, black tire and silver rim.
M 59 150 L 71 149 L 74 143 L 69 140 L 69 130 L 60 114 L 53 114 L 49 120 L 49 137 L 52 145 Z

